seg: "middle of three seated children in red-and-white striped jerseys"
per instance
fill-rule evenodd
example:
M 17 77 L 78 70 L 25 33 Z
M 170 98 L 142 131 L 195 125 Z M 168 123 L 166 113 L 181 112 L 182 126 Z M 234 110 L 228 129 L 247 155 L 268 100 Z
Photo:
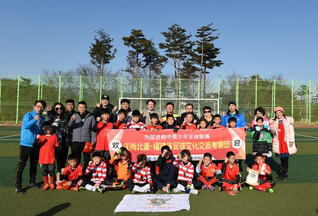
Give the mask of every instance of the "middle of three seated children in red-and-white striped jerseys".
M 134 163 L 132 167 L 132 172 L 135 173 L 135 177 L 133 178 L 133 183 L 128 185 L 128 189 L 135 192 L 141 193 L 156 193 L 156 186 L 153 185 L 151 179 L 150 168 L 146 166 L 147 155 L 138 154 L 137 162 Z M 154 184 L 156 184 L 154 182 Z

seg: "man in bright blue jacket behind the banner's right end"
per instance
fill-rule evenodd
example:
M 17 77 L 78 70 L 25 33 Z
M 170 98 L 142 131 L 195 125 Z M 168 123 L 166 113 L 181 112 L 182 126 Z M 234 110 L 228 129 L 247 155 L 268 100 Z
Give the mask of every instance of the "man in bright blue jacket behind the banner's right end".
M 246 126 L 246 121 L 245 121 L 244 116 L 242 115 L 241 112 L 239 112 L 236 109 L 236 102 L 235 101 L 228 102 L 228 110 L 227 110 L 227 112 L 225 112 L 225 111 L 222 112 L 221 125 L 226 127 L 226 124 L 228 123 L 228 119 L 230 117 L 235 117 L 236 118 L 236 127 L 244 127 L 244 129 L 248 128 Z

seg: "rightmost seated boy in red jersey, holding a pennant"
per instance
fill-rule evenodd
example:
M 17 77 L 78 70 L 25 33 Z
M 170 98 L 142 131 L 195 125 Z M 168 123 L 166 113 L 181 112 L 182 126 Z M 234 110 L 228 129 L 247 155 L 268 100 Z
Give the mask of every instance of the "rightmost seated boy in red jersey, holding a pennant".
M 262 153 L 256 153 L 255 154 L 255 164 L 252 166 L 252 170 L 259 170 L 259 163 L 263 163 L 264 161 L 264 157 Z M 247 172 L 249 172 L 249 167 L 246 168 Z M 258 174 L 258 180 L 257 182 L 259 183 L 258 186 L 249 186 L 249 190 L 259 190 L 259 191 L 263 191 L 263 192 L 267 192 L 267 193 L 273 193 L 273 187 L 276 185 L 275 180 L 273 180 L 272 177 L 272 170 L 269 167 L 268 164 L 266 164 L 266 168 L 262 170 L 263 172 L 265 172 L 265 175 L 261 175 Z

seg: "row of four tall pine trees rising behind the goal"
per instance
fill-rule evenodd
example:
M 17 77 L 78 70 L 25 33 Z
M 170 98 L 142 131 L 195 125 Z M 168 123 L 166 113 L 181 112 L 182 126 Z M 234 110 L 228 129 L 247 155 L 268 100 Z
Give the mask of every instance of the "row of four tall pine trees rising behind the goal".
M 213 41 L 219 34 L 213 35 L 217 29 L 212 28 L 212 23 L 197 29 L 197 40 L 192 41 L 192 34 L 187 34 L 186 29 L 178 24 L 173 24 L 168 31 L 161 32 L 165 42 L 159 43 L 159 48 L 164 50 L 165 55 L 160 55 L 152 39 L 147 39 L 140 29 L 132 29 L 129 36 L 122 37 L 124 45 L 131 48 L 127 54 L 127 67 L 124 70 L 132 78 L 142 77 L 158 78 L 166 64 L 174 66 L 175 97 L 179 95 L 178 79 L 203 80 L 203 95 L 209 84 L 206 83 L 206 74 L 209 69 L 219 67 L 223 63 L 216 60 L 220 48 L 214 46 Z M 109 37 L 104 29 L 96 31 L 99 37 L 94 38 L 95 43 L 90 47 L 91 62 L 100 73 L 104 74 L 104 65 L 108 64 L 115 56 Z M 140 71 L 143 70 L 142 72 Z M 138 83 L 136 92 L 139 92 Z

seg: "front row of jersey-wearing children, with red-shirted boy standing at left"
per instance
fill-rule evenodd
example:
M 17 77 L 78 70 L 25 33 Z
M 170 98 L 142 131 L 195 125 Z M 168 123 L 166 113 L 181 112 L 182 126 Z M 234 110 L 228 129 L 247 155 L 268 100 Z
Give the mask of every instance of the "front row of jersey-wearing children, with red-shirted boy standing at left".
M 34 146 L 40 147 L 39 163 L 41 164 L 41 172 L 45 183 L 43 190 L 55 189 L 55 158 L 58 148 L 57 136 L 52 134 L 52 125 L 49 121 L 44 123 L 43 130 L 45 134 L 37 135 Z M 164 149 L 170 151 L 169 146 Z M 61 170 L 60 179 L 56 182 L 56 189 L 64 189 L 61 182 L 65 180 L 68 190 L 81 191 L 83 189 L 104 193 L 106 190 L 119 190 L 128 188 L 132 193 L 156 193 L 157 184 L 152 181 L 150 168 L 146 166 L 147 156 L 138 154 L 136 162 L 133 163 L 127 158 L 128 151 L 122 147 L 110 159 L 110 164 L 116 165 L 116 178 L 108 179 L 106 162 L 103 161 L 103 155 L 100 151 L 95 151 L 92 155 L 93 161 L 90 161 L 86 171 L 86 176 L 92 176 L 90 180 L 84 178 L 83 166 L 78 163 L 77 155 L 72 153 L 68 156 L 69 165 Z M 200 159 L 196 173 L 199 181 L 194 179 L 194 166 L 189 161 L 191 153 L 188 149 L 182 150 L 175 160 L 173 166 L 177 168 L 176 180 L 170 183 L 170 188 L 174 193 L 184 191 L 190 194 L 199 194 L 198 189 L 214 190 L 216 184 L 220 191 L 232 190 L 235 194 L 244 186 L 244 181 L 240 179 L 240 170 L 235 163 L 235 154 L 227 152 L 222 168 L 219 169 L 212 162 L 212 155 L 205 153 Z M 118 158 L 119 157 L 119 158 Z M 179 160 L 181 158 L 181 160 Z M 253 170 L 259 170 L 258 164 L 263 163 L 263 155 L 255 154 L 255 164 Z M 249 168 L 247 168 L 249 171 Z M 275 181 L 271 175 L 271 169 L 267 165 L 263 170 L 265 175 L 259 175 L 259 185 L 250 186 L 249 190 L 260 190 L 273 193 L 272 187 Z M 223 174 L 223 175 L 222 175 Z M 159 188 L 161 189 L 161 188 Z

